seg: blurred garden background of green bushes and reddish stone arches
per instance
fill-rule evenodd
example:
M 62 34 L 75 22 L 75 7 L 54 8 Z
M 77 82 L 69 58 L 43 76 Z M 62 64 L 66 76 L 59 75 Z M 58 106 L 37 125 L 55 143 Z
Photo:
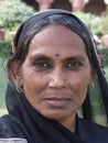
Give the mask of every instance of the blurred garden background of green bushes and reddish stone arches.
M 24 19 L 46 9 L 68 10 L 86 23 L 101 54 L 108 80 L 108 0 L 0 0 L 0 116 L 7 112 L 4 66 L 12 37 Z

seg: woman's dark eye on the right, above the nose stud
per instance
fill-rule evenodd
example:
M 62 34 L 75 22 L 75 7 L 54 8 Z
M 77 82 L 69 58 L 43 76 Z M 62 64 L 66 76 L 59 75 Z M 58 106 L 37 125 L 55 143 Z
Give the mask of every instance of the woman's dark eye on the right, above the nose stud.
M 78 69 L 80 66 L 82 66 L 82 63 L 78 61 L 67 61 L 65 63 L 65 68 L 67 68 L 69 70 Z

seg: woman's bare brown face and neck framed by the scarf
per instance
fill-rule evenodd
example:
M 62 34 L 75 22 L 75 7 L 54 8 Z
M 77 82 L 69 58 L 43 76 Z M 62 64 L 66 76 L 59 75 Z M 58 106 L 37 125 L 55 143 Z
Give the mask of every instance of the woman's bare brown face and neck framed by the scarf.
M 30 105 L 45 118 L 75 132 L 94 68 L 83 40 L 63 25 L 47 25 L 32 40 L 15 80 L 23 82 Z M 65 80 L 68 84 L 65 84 Z

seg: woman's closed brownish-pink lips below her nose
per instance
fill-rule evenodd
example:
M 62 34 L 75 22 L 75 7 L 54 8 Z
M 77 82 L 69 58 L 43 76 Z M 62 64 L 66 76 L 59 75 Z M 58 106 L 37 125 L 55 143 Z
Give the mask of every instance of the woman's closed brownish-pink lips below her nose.
M 71 99 L 68 98 L 45 98 L 45 102 L 48 106 L 55 107 L 55 108 L 62 108 L 65 107 L 71 102 Z

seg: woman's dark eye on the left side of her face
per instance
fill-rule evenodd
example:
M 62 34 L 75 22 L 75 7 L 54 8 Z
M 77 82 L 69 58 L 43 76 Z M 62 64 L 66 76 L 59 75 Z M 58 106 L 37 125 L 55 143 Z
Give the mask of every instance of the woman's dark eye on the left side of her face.
M 48 61 L 37 61 L 35 62 L 35 68 L 37 70 L 46 70 L 52 67 L 51 63 Z

